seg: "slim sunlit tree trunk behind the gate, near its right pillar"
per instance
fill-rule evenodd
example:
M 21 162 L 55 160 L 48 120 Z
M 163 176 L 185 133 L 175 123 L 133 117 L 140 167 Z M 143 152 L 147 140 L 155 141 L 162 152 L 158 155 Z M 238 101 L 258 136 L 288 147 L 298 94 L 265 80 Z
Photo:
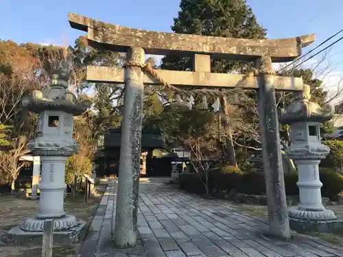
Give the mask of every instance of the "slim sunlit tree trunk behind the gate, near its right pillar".
M 233 145 L 233 134 L 230 128 L 230 117 L 228 115 L 228 101 L 226 97 L 222 97 L 222 108 L 224 111 L 223 127 L 228 133 L 226 138 L 225 155 L 226 161 L 230 166 L 237 167 L 237 160 L 235 154 L 235 147 Z

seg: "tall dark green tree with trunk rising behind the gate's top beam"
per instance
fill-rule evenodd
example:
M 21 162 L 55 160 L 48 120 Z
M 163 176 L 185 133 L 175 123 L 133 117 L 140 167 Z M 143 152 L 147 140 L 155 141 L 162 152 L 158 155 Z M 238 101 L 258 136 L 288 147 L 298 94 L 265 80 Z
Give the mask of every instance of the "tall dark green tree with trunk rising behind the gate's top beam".
M 265 38 L 266 29 L 257 23 L 256 16 L 245 0 L 181 0 L 178 17 L 174 18 L 171 29 L 180 34 L 196 34 L 202 36 L 220 36 L 228 38 Z M 246 63 L 228 60 L 211 60 L 211 72 L 228 73 L 244 72 Z M 187 71 L 191 70 L 192 58 L 182 56 L 165 56 L 162 69 Z M 227 115 L 228 103 L 224 106 L 224 128 L 230 130 Z M 230 135 L 231 133 L 229 133 Z M 237 166 L 232 136 L 226 140 L 224 148 L 226 162 Z

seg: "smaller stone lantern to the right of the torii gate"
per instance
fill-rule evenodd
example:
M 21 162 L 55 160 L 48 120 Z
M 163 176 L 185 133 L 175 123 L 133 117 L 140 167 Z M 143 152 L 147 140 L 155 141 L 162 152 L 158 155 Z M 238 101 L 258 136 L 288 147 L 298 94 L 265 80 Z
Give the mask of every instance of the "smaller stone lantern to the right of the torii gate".
M 309 101 L 310 98 L 310 88 L 304 85 L 303 93 L 279 115 L 280 123 L 290 125 L 292 145 L 285 153 L 298 167 L 296 184 L 299 188 L 300 203 L 289 208 L 289 217 L 293 221 L 332 221 L 337 219 L 335 214 L 322 205 L 322 182 L 318 165 L 330 151 L 329 147 L 320 142 L 320 123 L 332 119 L 334 108 L 330 105 L 320 107 L 318 103 Z

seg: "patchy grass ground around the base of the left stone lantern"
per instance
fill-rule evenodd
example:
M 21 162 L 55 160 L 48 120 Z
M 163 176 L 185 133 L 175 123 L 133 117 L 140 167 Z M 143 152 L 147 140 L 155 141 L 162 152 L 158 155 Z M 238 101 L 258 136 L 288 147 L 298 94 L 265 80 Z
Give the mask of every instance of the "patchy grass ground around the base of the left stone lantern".
M 84 194 L 79 193 L 74 198 L 68 195 L 64 199 L 64 211 L 74 215 L 76 219 L 86 222 L 80 234 L 81 241 L 86 236 L 87 230 L 91 225 L 93 216 L 104 195 L 106 185 L 97 185 L 97 195 L 92 195 L 87 203 L 84 202 Z M 38 200 L 28 200 L 25 195 L 1 194 L 0 197 L 0 238 L 5 232 L 16 225 L 23 223 L 27 217 L 34 217 L 38 212 Z M 53 249 L 54 257 L 75 256 L 78 254 L 81 243 L 75 245 L 56 245 Z M 41 245 L 1 245 L 0 256 L 6 257 L 40 257 L 42 256 Z

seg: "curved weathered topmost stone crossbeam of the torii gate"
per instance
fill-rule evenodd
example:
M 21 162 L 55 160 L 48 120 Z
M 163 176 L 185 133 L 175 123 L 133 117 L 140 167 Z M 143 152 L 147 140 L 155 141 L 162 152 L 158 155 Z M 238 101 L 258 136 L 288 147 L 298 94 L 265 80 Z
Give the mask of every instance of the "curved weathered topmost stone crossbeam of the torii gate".
M 270 56 L 272 62 L 289 62 L 301 55 L 303 47 L 316 39 L 315 34 L 282 39 L 244 39 L 198 36 L 122 27 L 96 21 L 78 14 L 69 14 L 74 29 L 88 32 L 87 38 L 103 49 L 126 52 L 129 47 L 142 47 L 156 55 L 202 53 L 228 60 L 255 60 Z

